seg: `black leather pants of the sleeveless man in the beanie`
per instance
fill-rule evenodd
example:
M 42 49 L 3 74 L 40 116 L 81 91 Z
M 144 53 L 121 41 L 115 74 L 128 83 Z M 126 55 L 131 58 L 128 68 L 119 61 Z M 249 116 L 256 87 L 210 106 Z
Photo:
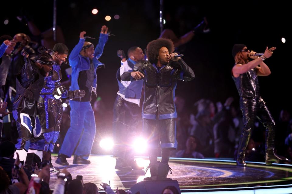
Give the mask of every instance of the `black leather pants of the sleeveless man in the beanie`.
M 275 122 L 262 97 L 240 98 L 240 109 L 243 115 L 244 127 L 238 145 L 237 160 L 244 159 L 244 151 L 255 126 L 255 118 L 266 128 L 266 152 L 275 146 Z

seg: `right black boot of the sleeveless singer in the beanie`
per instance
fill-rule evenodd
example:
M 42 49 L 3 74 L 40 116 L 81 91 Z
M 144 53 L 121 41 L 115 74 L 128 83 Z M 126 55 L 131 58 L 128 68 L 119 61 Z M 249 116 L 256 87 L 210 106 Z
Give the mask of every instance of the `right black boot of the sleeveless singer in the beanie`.
M 278 156 L 274 152 L 275 147 L 275 125 L 266 127 L 266 164 L 288 162 L 283 156 Z

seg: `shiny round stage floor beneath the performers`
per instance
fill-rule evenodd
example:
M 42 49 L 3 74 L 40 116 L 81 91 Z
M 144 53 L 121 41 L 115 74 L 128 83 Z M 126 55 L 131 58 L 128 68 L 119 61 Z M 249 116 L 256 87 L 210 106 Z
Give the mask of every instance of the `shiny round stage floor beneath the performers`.
M 63 169 L 54 161 L 56 168 Z M 130 189 L 134 184 L 149 177 L 144 170 L 122 171 L 116 170 L 116 159 L 111 156 L 90 156 L 89 165 L 72 164 L 73 157 L 67 159 L 68 171 L 72 178 L 83 176 L 83 182 L 93 182 L 99 188 L 101 182 L 109 183 L 112 188 Z M 149 164 L 147 158 L 136 158 L 144 166 Z M 264 165 L 262 163 L 248 163 L 247 167 L 236 166 L 234 161 L 208 160 L 208 159 L 177 159 L 169 162 L 172 174 L 168 178 L 176 179 L 182 192 L 215 192 L 235 191 L 249 189 L 275 189 L 292 187 L 292 166 L 290 165 Z M 54 189 L 57 177 L 51 175 L 50 189 Z M 290 190 L 292 192 L 292 189 Z M 252 192 L 255 193 L 255 192 Z M 283 192 L 290 193 L 290 192 Z

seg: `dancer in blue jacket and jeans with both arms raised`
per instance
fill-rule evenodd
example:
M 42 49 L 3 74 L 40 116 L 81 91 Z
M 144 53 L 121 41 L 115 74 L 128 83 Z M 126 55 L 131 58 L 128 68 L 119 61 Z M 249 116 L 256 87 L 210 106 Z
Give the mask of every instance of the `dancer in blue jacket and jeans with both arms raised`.
M 108 40 L 107 27 L 101 28 L 99 43 L 94 49 L 91 42 L 85 42 L 84 34 L 80 33 L 80 40 L 69 55 L 69 63 L 72 67 L 71 90 L 85 90 L 85 96 L 73 99 L 70 102 L 71 125 L 61 146 L 57 164 L 69 165 L 66 158 L 73 154 L 77 142 L 73 164 L 89 164 L 87 160 L 91 152 L 95 137 L 96 125 L 94 112 L 90 104 L 91 94 L 96 91 L 96 69 L 103 65 L 99 57 L 103 53 L 104 45 Z M 83 131 L 83 133 L 82 133 Z M 81 135 L 82 134 L 82 135 Z

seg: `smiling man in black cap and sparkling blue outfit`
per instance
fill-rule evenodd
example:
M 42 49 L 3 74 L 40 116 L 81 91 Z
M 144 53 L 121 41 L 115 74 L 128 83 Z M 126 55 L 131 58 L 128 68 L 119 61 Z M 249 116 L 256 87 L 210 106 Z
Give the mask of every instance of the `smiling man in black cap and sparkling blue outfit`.
M 40 99 L 37 104 L 40 116 L 40 124 L 45 138 L 43 151 L 50 156 L 54 150 L 54 145 L 60 133 L 60 125 L 63 114 L 61 98 L 73 99 L 81 98 L 85 92 L 83 90 L 67 91 L 61 85 L 61 68 L 60 66 L 66 61 L 69 49 L 63 43 L 54 45 L 52 58 L 54 60 L 53 70 L 50 76 L 45 78 L 43 89 L 40 93 Z M 50 170 L 54 170 L 50 162 Z

